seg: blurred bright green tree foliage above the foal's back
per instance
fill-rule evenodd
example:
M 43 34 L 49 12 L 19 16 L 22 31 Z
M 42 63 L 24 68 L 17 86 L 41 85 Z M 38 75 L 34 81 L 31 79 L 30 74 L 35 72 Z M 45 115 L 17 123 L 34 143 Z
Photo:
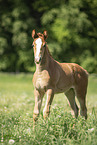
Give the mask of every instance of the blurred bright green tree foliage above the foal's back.
M 97 12 L 97 9 L 95 10 Z M 91 10 L 89 11 L 91 13 Z M 59 8 L 53 8 L 44 13 L 42 23 L 50 29 L 50 37 L 54 38 L 53 41 L 57 41 L 60 45 L 60 48 L 58 47 L 59 60 L 61 62 L 79 63 L 91 73 L 97 71 L 95 69 L 97 68 L 97 51 L 95 51 L 97 47 L 97 33 L 95 34 L 94 32 L 94 29 L 97 31 L 97 25 L 94 27 L 92 19 L 95 17 L 90 19 L 89 15 L 85 11 L 83 1 L 69 0 L 68 3 L 64 3 Z M 94 37 L 93 34 L 95 35 Z M 86 50 L 89 51 L 90 55 L 86 53 Z M 83 54 L 88 58 L 87 61 L 85 61 L 85 57 L 82 57 Z M 91 66 L 93 61 L 95 63 Z M 89 68 L 90 66 L 92 69 Z

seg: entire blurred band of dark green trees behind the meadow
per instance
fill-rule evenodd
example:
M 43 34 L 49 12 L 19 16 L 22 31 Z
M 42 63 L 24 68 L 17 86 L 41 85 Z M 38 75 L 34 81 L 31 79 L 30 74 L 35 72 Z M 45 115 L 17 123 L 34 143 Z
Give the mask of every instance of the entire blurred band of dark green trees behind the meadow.
M 33 29 L 55 59 L 97 73 L 96 0 L 0 0 L 0 71 L 33 71 Z

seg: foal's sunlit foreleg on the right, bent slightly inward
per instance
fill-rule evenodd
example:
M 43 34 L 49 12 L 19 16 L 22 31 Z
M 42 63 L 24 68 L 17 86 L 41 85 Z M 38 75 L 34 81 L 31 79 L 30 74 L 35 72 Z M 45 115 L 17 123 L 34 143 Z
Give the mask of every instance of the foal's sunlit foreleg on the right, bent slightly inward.
M 54 97 L 54 91 L 53 91 L 53 89 L 48 89 L 47 90 L 47 101 L 46 101 L 45 108 L 43 110 L 43 117 L 44 117 L 44 119 L 46 119 L 49 116 L 50 107 L 51 107 L 51 103 L 53 101 L 53 97 Z

